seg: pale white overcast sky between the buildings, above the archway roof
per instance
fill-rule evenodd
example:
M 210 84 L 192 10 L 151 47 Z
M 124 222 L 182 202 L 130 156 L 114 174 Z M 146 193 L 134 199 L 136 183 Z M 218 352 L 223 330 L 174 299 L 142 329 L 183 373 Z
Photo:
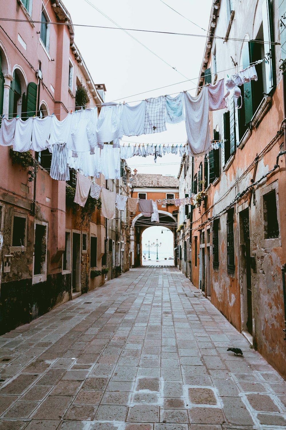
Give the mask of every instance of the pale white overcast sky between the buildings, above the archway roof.
M 211 0 L 164 1 L 200 27 L 208 28 Z M 64 0 L 74 24 L 116 27 L 87 2 L 96 6 L 123 28 L 206 34 L 205 31 L 178 15 L 160 0 L 145 0 L 144 2 Z M 105 101 L 117 99 L 119 99 L 118 102 L 141 101 L 144 98 L 178 93 L 196 87 L 205 48 L 205 37 L 137 31 L 129 33 L 175 67 L 177 71 L 122 30 L 75 27 L 75 43 L 83 55 L 93 81 L 105 83 L 107 89 Z M 187 79 L 193 79 L 193 81 L 179 83 Z M 178 84 L 169 86 L 175 83 Z M 167 85 L 166 88 L 156 90 L 156 88 Z M 135 95 L 141 92 L 145 93 Z M 194 92 L 190 91 L 190 93 Z M 127 137 L 122 141 L 162 144 L 180 142 L 181 144 L 181 142 L 186 142 L 186 138 L 185 124 L 181 123 L 167 124 L 167 131 L 163 133 Z M 157 160 L 157 164 L 154 163 L 153 157 L 143 159 L 133 157 L 127 160 L 131 170 L 136 167 L 138 173 L 161 173 L 174 176 L 178 175 L 180 161 L 179 155 L 172 154 L 163 156 Z M 171 237 L 171 233 L 169 236 Z

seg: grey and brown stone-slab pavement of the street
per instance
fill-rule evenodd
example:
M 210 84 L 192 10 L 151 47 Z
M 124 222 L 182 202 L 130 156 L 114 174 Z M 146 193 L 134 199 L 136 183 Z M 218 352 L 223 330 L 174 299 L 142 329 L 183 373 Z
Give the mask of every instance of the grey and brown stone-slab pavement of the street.
M 0 430 L 286 428 L 286 382 L 175 267 L 130 270 L 0 345 Z

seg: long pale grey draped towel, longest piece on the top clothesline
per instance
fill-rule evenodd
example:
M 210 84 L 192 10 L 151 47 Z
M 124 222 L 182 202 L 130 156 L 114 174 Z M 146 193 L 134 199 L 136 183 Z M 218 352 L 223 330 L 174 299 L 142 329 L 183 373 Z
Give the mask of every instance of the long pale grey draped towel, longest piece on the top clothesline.
M 208 88 L 204 86 L 196 97 L 184 92 L 184 98 L 189 154 L 198 157 L 206 154 L 211 146 Z

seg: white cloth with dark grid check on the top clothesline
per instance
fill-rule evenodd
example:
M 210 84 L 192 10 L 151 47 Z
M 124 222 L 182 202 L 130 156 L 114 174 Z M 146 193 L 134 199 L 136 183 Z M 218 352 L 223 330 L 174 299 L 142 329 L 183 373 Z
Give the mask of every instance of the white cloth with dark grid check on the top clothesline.
M 144 134 L 160 133 L 166 131 L 166 98 L 161 95 L 146 100 Z

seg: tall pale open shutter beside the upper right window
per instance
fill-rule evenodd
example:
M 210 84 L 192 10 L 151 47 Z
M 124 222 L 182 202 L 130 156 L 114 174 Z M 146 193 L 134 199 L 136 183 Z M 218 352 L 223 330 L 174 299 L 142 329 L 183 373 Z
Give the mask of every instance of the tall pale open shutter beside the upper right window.
M 269 94 L 275 87 L 274 46 L 269 43 L 273 42 L 270 0 L 265 0 L 264 3 L 262 3 L 262 24 L 265 54 L 265 92 Z

